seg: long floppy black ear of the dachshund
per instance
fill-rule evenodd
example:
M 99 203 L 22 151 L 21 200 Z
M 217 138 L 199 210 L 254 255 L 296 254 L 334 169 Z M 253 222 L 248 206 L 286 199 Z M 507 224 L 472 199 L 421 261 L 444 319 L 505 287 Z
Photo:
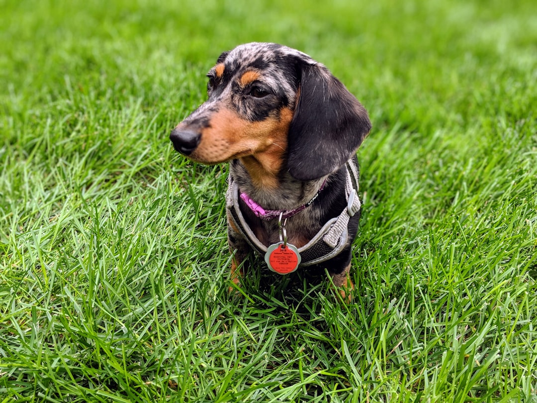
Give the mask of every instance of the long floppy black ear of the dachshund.
M 309 181 L 335 172 L 371 129 L 358 100 L 328 69 L 302 63 L 300 95 L 289 126 L 289 173 Z

